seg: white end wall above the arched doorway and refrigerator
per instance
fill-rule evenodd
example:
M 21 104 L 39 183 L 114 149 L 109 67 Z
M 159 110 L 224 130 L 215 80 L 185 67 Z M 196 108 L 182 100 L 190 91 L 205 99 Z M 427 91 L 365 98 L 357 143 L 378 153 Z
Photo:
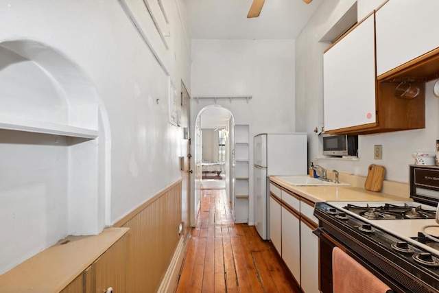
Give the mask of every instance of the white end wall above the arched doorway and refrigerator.
M 235 124 L 250 125 L 250 219 L 253 221 L 252 137 L 263 132 L 294 132 L 293 40 L 192 40 L 192 97 L 252 95 L 218 100 Z M 193 119 L 213 99 L 193 101 Z

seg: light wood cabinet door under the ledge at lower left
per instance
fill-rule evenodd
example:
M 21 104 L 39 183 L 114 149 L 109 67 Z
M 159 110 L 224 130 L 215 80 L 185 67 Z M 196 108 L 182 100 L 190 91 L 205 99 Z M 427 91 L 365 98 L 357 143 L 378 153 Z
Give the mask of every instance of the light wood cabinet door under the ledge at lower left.
M 106 292 L 110 287 L 115 293 L 126 292 L 126 237 L 121 237 L 93 263 L 95 292 Z

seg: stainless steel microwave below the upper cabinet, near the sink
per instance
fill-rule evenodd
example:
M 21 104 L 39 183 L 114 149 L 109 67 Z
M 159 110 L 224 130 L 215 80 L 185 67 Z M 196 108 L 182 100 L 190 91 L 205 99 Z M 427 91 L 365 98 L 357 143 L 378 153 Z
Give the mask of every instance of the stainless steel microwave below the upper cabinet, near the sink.
M 324 156 L 357 156 L 358 135 L 323 134 Z

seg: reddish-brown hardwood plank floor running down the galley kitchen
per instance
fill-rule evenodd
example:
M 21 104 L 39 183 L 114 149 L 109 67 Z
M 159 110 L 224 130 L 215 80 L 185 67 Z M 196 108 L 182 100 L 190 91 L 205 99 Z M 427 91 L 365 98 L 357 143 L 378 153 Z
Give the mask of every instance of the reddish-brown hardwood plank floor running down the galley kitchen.
M 224 189 L 202 190 L 177 292 L 300 292 L 271 242 L 234 224 Z

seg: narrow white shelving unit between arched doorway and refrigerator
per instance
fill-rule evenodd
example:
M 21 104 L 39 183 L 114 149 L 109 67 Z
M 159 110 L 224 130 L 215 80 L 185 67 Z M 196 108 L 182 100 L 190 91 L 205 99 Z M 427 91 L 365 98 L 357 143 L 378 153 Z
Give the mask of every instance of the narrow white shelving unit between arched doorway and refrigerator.
M 248 222 L 249 127 L 235 125 L 235 222 Z

